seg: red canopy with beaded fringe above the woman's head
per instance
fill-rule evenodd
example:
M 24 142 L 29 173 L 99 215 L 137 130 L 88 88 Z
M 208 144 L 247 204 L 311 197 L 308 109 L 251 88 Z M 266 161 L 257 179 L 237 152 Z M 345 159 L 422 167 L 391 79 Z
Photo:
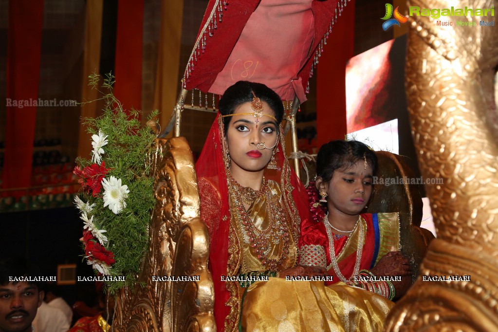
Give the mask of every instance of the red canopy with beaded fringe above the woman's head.
M 308 80 L 346 0 L 210 0 L 184 88 L 223 94 L 240 80 L 302 103 Z

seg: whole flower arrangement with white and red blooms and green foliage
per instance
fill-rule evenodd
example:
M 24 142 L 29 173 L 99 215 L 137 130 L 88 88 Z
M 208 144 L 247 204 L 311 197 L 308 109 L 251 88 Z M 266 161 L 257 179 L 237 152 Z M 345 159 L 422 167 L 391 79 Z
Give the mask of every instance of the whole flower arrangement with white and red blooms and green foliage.
M 97 89 L 99 75 L 90 76 Z M 137 119 L 139 111 L 124 112 L 112 94 L 114 77 L 108 75 L 103 88 L 104 113 L 85 118 L 92 136 L 91 159 L 77 158 L 74 174 L 81 184 L 75 205 L 83 221 L 84 258 L 106 288 L 114 293 L 131 286 L 147 250 L 147 228 L 154 206 L 154 179 L 145 159 L 156 138 Z M 157 111 L 150 114 L 155 117 Z

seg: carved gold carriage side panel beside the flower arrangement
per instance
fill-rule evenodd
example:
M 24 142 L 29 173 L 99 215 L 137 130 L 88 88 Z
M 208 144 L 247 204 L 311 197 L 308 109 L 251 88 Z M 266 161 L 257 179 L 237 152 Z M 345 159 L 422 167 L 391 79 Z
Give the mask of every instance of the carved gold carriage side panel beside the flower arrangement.
M 134 289 L 117 296 L 114 331 L 216 331 L 208 270 L 209 235 L 200 220 L 192 151 L 184 137 L 158 138 L 147 159 L 156 204 L 149 249 Z M 153 276 L 199 276 L 198 281 L 153 281 Z

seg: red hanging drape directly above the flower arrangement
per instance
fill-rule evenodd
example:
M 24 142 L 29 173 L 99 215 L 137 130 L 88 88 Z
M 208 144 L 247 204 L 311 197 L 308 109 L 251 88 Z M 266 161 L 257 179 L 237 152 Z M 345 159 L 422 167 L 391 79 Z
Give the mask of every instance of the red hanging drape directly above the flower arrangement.
M 120 0 L 114 95 L 125 110 L 141 110 L 143 0 Z

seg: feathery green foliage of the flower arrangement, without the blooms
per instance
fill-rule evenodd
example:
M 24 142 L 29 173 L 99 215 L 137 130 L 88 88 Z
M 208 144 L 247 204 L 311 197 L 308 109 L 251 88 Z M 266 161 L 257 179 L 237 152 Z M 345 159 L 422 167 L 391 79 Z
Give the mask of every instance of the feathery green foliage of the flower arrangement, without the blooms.
M 97 74 L 89 76 L 90 84 L 98 89 L 100 77 Z M 107 250 L 114 253 L 116 263 L 112 265 L 112 276 L 125 276 L 125 281 L 107 281 L 106 287 L 114 293 L 125 284 L 131 286 L 136 281 L 140 270 L 140 262 L 148 247 L 147 228 L 150 221 L 150 212 L 154 206 L 154 179 L 149 174 L 149 165 L 145 159 L 151 143 L 156 135 L 148 127 L 142 127 L 137 119 L 140 111 L 124 112 L 122 104 L 112 93 L 114 77 L 109 74 L 103 82 L 101 100 L 105 101 L 104 113 L 98 118 L 84 118 L 83 123 L 88 132 L 98 134 L 99 130 L 107 135 L 108 144 L 103 146 L 102 160 L 105 167 L 110 169 L 106 175 L 115 176 L 122 180 L 122 185 L 128 187 L 126 207 L 115 215 L 109 207 L 104 207 L 104 188 L 97 197 L 92 194 L 80 195 L 84 202 L 95 204 L 88 218 L 94 217 L 94 223 L 105 229 L 109 242 Z M 94 101 L 95 102 L 95 101 Z M 155 117 L 157 111 L 152 112 L 150 118 Z M 91 144 L 91 141 L 88 142 Z M 92 165 L 91 157 L 78 158 L 78 165 L 83 168 Z M 97 272 L 97 270 L 96 270 Z

